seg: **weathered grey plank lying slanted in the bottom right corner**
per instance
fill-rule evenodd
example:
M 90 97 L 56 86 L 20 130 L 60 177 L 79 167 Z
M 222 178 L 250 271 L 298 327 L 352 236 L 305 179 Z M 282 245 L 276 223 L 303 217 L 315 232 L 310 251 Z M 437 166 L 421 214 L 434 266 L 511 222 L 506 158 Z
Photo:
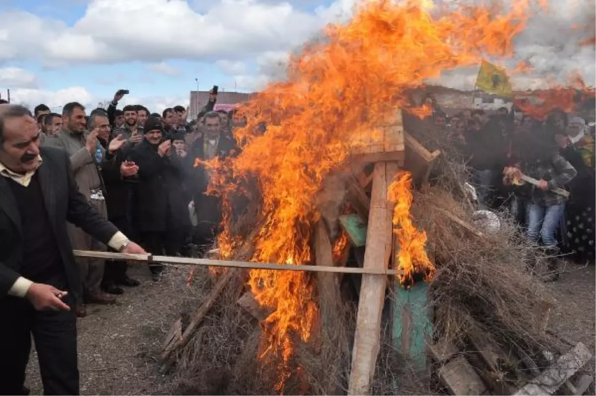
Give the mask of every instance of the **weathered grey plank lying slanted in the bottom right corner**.
M 514 396 L 550 396 L 591 358 L 592 354 L 588 348 L 579 342 L 569 353 L 559 357 L 556 363 L 527 383 Z

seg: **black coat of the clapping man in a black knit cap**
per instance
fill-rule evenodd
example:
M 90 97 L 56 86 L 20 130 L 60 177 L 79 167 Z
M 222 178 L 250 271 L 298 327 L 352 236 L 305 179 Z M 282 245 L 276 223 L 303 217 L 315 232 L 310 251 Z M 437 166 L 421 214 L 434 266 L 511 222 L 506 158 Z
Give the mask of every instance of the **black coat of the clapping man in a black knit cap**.
M 139 167 L 134 183 L 133 223 L 138 232 L 166 232 L 190 227 L 188 195 L 182 183 L 187 168 L 175 154 L 160 157 L 146 139 L 131 150 L 129 160 Z

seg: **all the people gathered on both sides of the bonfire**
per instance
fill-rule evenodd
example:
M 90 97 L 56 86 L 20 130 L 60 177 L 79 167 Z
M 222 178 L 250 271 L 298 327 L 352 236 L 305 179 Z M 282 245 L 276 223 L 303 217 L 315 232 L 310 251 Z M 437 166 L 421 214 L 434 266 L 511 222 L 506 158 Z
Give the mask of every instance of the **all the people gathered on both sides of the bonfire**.
M 6 394 L 27 394 L 33 334 L 45 394 L 77 395 L 76 317 L 139 285 L 126 261 L 75 258 L 73 248 L 200 255 L 218 233 L 204 161 L 237 154 L 232 129 L 244 121 L 213 111 L 216 91 L 190 123 L 182 106 L 120 110 L 124 95 L 91 111 L 0 104 L 0 314 L 11 323 L 0 327 L 0 353 L 14 357 L 0 360 Z M 433 103 L 434 127 L 470 167 L 479 204 L 510 210 L 551 257 L 553 279 L 561 252 L 596 253 L 596 112 L 581 115 L 543 120 L 501 108 L 448 117 Z M 538 181 L 522 183 L 522 174 Z M 159 282 L 164 267 L 149 267 Z

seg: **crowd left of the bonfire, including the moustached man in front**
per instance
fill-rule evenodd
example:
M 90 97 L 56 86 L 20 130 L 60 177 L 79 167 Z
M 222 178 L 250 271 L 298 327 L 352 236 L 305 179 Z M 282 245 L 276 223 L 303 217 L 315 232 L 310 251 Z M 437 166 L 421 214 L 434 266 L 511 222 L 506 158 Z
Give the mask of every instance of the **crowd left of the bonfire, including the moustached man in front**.
M 11 323 L 0 329 L 2 394 L 28 392 L 31 335 L 44 394 L 79 394 L 76 317 L 139 285 L 126 261 L 73 249 L 176 256 L 213 245 L 222 214 L 201 161 L 233 155 L 240 122 L 213 111 L 216 92 L 190 123 L 182 106 L 120 110 L 124 94 L 91 111 L 0 104 L 0 314 Z M 149 267 L 159 282 L 164 267 Z

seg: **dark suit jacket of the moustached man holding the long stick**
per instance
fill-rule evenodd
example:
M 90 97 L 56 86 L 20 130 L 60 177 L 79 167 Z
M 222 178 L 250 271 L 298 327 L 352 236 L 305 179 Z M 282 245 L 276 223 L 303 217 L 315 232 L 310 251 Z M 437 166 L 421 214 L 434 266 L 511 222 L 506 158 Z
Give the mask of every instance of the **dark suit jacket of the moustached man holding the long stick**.
M 59 148 L 42 147 L 42 166 L 37 170 L 49 222 L 52 225 L 66 270 L 69 290 L 81 295 L 79 270 L 75 265 L 66 222 L 75 224 L 107 244 L 118 231 L 91 208 L 79 192 L 69 155 Z M 0 298 L 5 297 L 20 275 L 23 235 L 17 204 L 8 181 L 0 176 Z

